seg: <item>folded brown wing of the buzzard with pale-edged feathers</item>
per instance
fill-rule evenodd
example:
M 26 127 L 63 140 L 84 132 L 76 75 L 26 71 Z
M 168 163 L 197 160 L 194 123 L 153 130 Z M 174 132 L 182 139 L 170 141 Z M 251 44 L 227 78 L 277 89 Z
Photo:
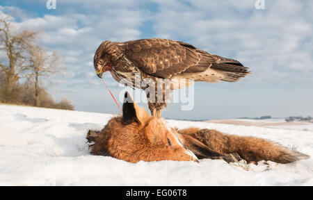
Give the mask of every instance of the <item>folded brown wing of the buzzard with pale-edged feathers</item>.
M 160 78 L 187 71 L 203 72 L 220 60 L 218 56 L 196 49 L 191 44 L 175 40 L 153 38 L 125 43 L 127 59 L 143 72 Z

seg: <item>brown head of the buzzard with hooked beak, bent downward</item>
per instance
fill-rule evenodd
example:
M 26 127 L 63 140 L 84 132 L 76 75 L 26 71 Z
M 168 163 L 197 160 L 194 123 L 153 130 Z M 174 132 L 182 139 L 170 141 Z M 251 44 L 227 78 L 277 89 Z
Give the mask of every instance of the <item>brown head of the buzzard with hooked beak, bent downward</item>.
M 93 57 L 93 66 L 99 78 L 102 78 L 102 74 L 111 69 L 111 56 L 106 53 L 105 42 L 102 42 L 95 52 Z

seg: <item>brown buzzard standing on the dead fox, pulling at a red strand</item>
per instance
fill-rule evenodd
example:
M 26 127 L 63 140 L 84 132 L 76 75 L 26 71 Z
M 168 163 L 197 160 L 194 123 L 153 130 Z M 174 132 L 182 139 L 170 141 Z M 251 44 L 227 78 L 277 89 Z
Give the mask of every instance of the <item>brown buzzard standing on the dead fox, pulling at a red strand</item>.
M 237 60 L 207 53 L 186 42 L 160 38 L 102 42 L 95 51 L 93 63 L 99 78 L 109 71 L 115 81 L 121 83 L 128 80 L 128 86 L 145 90 L 152 116 L 161 115 L 161 110 L 166 107 L 166 95 L 161 94 L 161 102 L 157 101 L 156 88 L 153 98 L 150 98 L 152 94 L 147 91 L 151 90 L 146 90 L 145 84 L 135 83 L 138 77 L 152 80 L 155 87 L 160 78 L 168 78 L 172 83 L 170 90 L 175 90 L 182 88 L 180 79 L 191 78 L 208 83 L 236 82 L 250 74 L 249 68 Z M 152 101 L 154 98 L 155 101 Z

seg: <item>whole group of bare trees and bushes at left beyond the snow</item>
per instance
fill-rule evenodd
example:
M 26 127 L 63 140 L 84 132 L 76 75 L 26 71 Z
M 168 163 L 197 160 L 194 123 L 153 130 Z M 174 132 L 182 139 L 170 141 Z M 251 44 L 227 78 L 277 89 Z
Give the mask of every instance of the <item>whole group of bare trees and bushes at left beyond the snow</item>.
M 0 102 L 74 110 L 66 98 L 55 102 L 43 79 L 61 73 L 58 54 L 36 42 L 38 31 L 17 31 L 9 16 L 0 16 Z

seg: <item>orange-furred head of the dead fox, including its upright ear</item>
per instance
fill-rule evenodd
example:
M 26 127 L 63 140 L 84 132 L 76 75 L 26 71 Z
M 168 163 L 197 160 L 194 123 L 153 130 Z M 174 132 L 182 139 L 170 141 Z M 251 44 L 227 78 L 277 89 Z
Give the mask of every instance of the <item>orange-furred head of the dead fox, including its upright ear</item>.
M 95 142 L 93 153 L 136 163 L 140 160 L 194 160 L 195 155 L 184 148 L 175 128 L 161 117 L 151 117 L 137 106 L 128 92 L 121 117 L 113 117 Z

